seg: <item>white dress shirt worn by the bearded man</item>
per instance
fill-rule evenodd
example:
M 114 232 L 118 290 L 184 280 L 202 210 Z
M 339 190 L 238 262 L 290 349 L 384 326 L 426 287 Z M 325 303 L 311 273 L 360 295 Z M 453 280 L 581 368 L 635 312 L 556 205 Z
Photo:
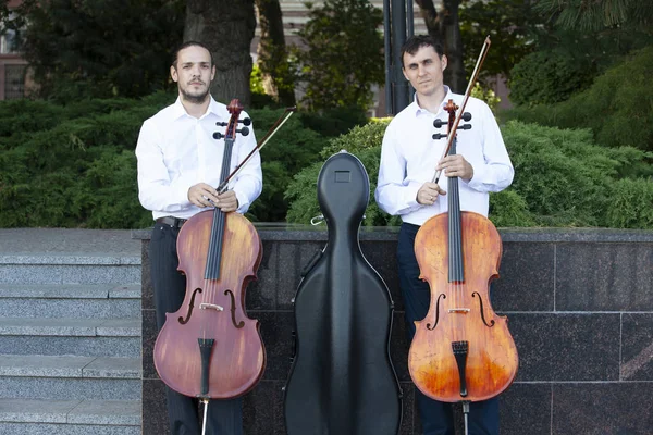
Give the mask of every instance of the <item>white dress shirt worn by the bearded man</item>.
M 245 112 L 239 119 L 246 117 Z M 172 105 L 143 123 L 136 157 L 138 158 L 138 199 L 152 211 L 153 219 L 174 216 L 188 219 L 202 210 L 188 200 L 188 189 L 206 183 L 220 185 L 224 139 L 213 139 L 213 133 L 225 133 L 217 122 L 229 122 L 226 105 L 213 100 L 199 119 L 186 113 L 180 98 Z M 238 124 L 241 126 L 243 124 Z M 249 135 L 236 134 L 232 149 L 230 173 L 256 148 L 252 126 Z M 238 213 L 245 213 L 262 188 L 261 159 L 257 152 L 241 172 L 230 181 L 229 188 L 238 199 Z

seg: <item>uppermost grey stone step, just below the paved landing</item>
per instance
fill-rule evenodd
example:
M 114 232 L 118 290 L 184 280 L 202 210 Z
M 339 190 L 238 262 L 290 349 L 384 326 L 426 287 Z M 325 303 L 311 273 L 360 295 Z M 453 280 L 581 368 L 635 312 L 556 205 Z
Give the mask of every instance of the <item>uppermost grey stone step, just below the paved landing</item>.
M 140 258 L 120 256 L 0 256 L 3 284 L 138 284 Z

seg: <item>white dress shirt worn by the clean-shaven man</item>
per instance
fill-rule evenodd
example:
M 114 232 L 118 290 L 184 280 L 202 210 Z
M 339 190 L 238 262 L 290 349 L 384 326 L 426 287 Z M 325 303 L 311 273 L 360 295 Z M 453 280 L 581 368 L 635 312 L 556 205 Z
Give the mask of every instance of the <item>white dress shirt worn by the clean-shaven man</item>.
M 417 202 L 417 192 L 435 175 L 435 166 L 446 147 L 446 137 L 434 140 L 432 135 L 446 136 L 448 112 L 444 105 L 449 99 L 460 107 L 464 96 L 453 94 L 445 86 L 446 96 L 436 114 L 421 109 L 415 101 L 399 112 L 390 123 L 383 136 L 379 181 L 374 192 L 377 203 L 392 215 L 401 215 L 404 222 L 422 225 L 430 217 L 448 210 L 447 196 L 440 195 L 433 206 Z M 506 151 L 501 130 L 492 111 L 483 101 L 469 98 L 465 112 L 471 113 L 471 129 L 458 129 L 456 150 L 473 167 L 469 182 L 459 178 L 460 210 L 488 216 L 490 191 L 501 191 L 513 182 L 514 170 Z M 441 119 L 444 125 L 433 127 Z M 460 125 L 465 124 L 460 121 Z M 446 173 L 441 174 L 439 185 L 448 190 Z

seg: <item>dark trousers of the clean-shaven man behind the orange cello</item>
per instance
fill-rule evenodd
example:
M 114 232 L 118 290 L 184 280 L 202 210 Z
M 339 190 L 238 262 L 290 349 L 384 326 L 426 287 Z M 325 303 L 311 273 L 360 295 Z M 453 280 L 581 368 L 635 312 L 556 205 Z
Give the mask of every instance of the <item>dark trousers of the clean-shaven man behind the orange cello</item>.
M 415 236 L 419 226 L 406 224 L 399 229 L 397 261 L 399 287 L 406 307 L 408 343 L 415 336 L 415 321 L 422 320 L 429 311 L 431 290 L 419 279 L 419 264 L 415 258 Z M 451 403 L 432 400 L 416 389 L 417 405 L 424 435 L 454 435 L 454 417 Z M 469 407 L 470 435 L 498 435 L 498 400 L 496 398 L 472 402 Z

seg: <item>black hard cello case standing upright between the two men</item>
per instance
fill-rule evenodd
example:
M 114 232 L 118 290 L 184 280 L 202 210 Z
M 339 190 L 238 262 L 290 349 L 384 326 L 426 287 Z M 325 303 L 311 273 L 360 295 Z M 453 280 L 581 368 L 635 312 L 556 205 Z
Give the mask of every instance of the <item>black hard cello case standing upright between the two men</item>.
M 358 229 L 365 166 L 341 151 L 318 177 L 329 241 L 295 296 L 295 358 L 285 387 L 288 435 L 395 435 L 402 391 L 390 359 L 393 302 Z

